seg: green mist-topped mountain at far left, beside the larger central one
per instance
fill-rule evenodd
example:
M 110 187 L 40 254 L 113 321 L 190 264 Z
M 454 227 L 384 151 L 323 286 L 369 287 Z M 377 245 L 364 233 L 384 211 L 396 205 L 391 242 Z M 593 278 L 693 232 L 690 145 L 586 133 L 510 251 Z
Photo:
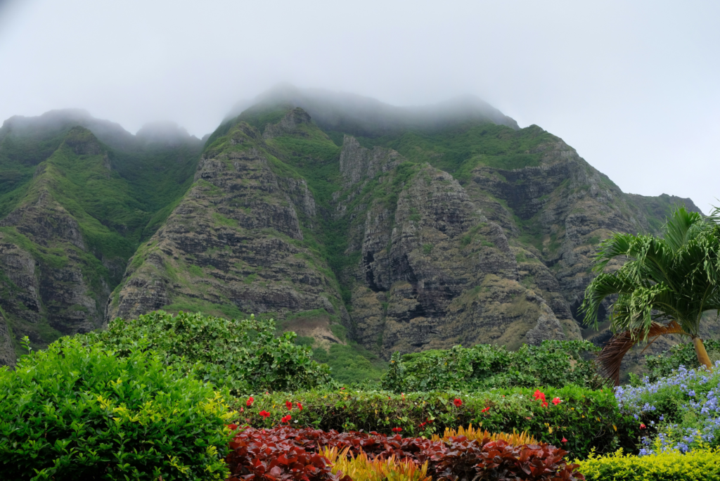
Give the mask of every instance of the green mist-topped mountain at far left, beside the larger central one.
M 105 324 L 128 259 L 184 194 L 202 150 L 186 132 L 171 146 L 156 137 L 78 110 L 0 127 L 4 364 L 22 336 L 43 346 Z

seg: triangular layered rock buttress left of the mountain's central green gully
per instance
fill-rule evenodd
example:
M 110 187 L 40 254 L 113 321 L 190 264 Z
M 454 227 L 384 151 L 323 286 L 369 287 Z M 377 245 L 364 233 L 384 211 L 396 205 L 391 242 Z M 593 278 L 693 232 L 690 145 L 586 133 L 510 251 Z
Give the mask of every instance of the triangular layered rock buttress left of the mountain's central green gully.
M 278 132 L 292 131 L 302 113 L 290 116 Z M 279 171 L 281 161 L 250 125 L 217 140 L 189 192 L 130 261 L 107 318 L 159 308 L 279 319 L 324 310 L 347 318 L 325 261 L 304 242 L 315 217 L 312 194 L 303 179 Z

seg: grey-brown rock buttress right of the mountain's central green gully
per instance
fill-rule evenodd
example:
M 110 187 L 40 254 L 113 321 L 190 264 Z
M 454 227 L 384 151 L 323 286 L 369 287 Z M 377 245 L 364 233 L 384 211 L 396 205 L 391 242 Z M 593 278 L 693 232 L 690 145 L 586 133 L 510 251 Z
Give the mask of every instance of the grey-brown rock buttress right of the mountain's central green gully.
M 361 253 L 351 300 L 357 341 L 387 354 L 566 338 L 544 298 L 520 284 L 503 229 L 450 174 L 349 137 L 340 158 L 350 187 L 337 212 L 366 209 L 348 247 Z M 375 195 L 358 199 L 353 184 L 362 191 L 376 176 Z M 580 338 L 567 307 L 562 314 L 567 336 Z

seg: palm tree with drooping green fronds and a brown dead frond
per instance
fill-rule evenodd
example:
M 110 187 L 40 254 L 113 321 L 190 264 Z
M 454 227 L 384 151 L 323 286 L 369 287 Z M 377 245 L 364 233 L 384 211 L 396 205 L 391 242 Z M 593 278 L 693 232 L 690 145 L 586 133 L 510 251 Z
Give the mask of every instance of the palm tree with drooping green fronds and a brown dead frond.
M 600 243 L 593 270 L 600 272 L 585 290 L 585 322 L 598 328 L 598 310 L 617 295 L 610 314 L 613 337 L 598 356 L 600 370 L 618 385 L 620 364 L 639 341 L 657 336 L 689 336 L 698 362 L 711 368 L 698 336 L 704 312 L 720 315 L 720 209 L 710 217 L 678 207 L 667 219 L 662 238 L 615 233 Z M 603 273 L 611 259 L 624 266 Z M 649 344 L 648 344 L 649 345 Z

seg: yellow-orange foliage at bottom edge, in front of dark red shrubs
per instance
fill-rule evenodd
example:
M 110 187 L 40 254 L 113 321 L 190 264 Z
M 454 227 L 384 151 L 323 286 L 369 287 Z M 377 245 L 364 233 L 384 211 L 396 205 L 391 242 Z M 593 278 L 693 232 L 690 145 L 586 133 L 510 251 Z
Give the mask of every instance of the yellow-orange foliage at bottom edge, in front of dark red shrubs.
M 368 459 L 361 452 L 357 457 L 348 454 L 349 448 L 338 452 L 338 448 L 325 447 L 320 454 L 333 464 L 333 475 L 342 472 L 353 481 L 430 481 L 428 462 L 418 466 L 412 461 L 399 461 L 395 456 L 387 459 Z

